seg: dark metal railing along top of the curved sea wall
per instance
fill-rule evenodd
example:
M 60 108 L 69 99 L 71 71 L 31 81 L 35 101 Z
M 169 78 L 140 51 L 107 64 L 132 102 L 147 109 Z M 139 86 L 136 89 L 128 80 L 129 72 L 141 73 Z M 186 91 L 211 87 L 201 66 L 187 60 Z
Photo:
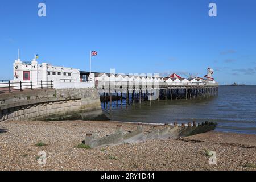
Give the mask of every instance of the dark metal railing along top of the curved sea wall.
M 0 82 L 0 93 L 53 88 L 53 81 L 6 81 Z

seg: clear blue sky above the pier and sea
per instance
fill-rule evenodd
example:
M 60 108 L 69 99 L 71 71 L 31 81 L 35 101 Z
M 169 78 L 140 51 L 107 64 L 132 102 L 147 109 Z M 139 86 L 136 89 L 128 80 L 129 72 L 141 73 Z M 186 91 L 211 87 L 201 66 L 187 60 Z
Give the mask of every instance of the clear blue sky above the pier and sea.
M 46 17 L 38 4 L 46 3 Z M 208 5 L 217 4 L 217 17 Z M 23 61 L 117 73 L 199 73 L 256 84 L 256 1 L 49 0 L 0 2 L 0 80 Z

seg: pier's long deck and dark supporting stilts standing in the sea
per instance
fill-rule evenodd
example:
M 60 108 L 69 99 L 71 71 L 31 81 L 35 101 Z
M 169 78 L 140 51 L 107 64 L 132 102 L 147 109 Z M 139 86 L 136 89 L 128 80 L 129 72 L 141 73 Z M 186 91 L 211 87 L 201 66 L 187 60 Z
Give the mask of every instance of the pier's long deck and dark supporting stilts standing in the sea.
M 129 85 L 129 86 L 127 86 Z M 96 85 L 96 89 L 101 94 L 103 107 L 112 109 L 113 102 L 118 106 L 118 100 L 122 107 L 126 101 L 126 108 L 130 104 L 142 104 L 153 100 L 192 100 L 195 98 L 209 98 L 218 94 L 218 84 L 197 83 L 170 85 L 165 82 L 156 82 L 150 85 L 143 82 L 101 82 Z M 114 99 L 113 99 L 114 98 Z

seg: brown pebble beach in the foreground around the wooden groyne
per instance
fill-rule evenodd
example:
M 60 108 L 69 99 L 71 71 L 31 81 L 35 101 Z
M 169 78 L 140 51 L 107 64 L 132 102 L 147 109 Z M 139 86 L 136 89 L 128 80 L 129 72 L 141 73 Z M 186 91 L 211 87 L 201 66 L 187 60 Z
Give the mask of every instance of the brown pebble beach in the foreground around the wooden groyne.
M 76 147 L 86 132 L 115 132 L 113 121 L 11 121 L 0 123 L 0 170 L 256 170 L 256 135 L 217 133 L 149 140 L 96 149 Z M 123 123 L 123 130 L 137 129 Z M 145 132 L 154 125 L 142 125 Z M 159 125 L 160 127 L 164 127 Z M 41 146 L 38 143 L 43 143 Z M 38 163 L 40 151 L 46 164 Z M 209 164 L 215 151 L 217 164 Z

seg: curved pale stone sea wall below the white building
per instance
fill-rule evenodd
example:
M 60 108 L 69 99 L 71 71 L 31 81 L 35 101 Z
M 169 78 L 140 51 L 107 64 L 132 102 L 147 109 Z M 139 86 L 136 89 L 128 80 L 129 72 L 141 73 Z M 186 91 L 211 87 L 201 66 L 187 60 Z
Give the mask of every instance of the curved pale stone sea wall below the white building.
M 0 121 L 65 119 L 102 114 L 94 88 L 35 89 L 0 94 Z

